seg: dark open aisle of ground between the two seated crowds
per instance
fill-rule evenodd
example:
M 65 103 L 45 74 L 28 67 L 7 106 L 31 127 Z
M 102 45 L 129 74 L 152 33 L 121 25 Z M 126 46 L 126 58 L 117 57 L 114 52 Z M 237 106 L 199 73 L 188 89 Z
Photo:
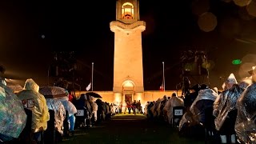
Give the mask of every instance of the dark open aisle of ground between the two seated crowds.
M 179 138 L 177 130 L 150 122 L 143 115 L 117 115 L 90 130 L 76 130 L 74 137 L 64 139 L 67 143 L 98 144 L 203 144 L 192 139 Z

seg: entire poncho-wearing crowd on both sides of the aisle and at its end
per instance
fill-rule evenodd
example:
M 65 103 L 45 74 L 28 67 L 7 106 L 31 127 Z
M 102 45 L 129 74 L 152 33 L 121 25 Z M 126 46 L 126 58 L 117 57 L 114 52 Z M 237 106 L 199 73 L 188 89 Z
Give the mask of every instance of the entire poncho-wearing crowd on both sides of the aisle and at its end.
M 154 102 L 147 102 L 144 110 L 140 101 L 126 102 L 124 112 L 146 114 L 150 120 L 178 126 L 178 133 L 184 137 L 210 138 L 214 143 L 255 143 L 255 67 L 250 74 L 250 78 L 241 82 L 230 74 L 222 91 L 206 84 L 196 84 L 184 97 L 176 93 L 170 97 L 164 95 Z M 76 128 L 90 128 L 108 120 L 111 115 L 122 113 L 122 106 L 101 99 L 94 101 L 89 94 L 76 98 L 62 87 L 38 86 L 31 78 L 18 93 L 6 86 L 5 78 L 0 76 L 0 80 L 0 142 L 18 140 L 27 143 L 29 138 L 40 143 L 43 133 L 50 130 L 51 120 L 60 137 L 70 136 Z M 184 108 L 181 118 L 174 118 L 177 106 Z M 24 134 L 26 130 L 30 134 Z

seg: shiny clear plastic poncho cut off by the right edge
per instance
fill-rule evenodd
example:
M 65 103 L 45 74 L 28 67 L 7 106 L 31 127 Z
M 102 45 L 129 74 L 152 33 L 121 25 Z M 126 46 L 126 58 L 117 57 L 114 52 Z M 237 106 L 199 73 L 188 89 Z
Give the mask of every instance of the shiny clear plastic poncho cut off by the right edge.
M 239 141 L 255 143 L 256 140 L 256 83 L 248 86 L 237 102 L 238 116 L 234 129 Z

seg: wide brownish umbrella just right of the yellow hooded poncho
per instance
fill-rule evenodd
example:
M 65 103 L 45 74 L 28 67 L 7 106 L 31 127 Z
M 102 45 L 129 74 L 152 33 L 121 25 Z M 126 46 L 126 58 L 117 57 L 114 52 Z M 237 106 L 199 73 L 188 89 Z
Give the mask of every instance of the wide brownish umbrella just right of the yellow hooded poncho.
M 45 98 L 66 97 L 68 94 L 66 89 L 59 86 L 42 86 L 39 88 L 39 93 Z

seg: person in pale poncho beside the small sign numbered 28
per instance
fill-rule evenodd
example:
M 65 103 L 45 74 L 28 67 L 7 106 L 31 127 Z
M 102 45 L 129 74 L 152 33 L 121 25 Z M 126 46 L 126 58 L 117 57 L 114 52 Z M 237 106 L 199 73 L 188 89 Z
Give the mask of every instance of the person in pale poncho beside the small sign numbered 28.
M 166 102 L 166 106 L 163 108 L 167 116 L 167 122 L 171 124 L 171 119 L 173 118 L 173 108 L 174 106 L 184 106 L 182 98 L 178 98 L 176 93 L 171 95 L 171 98 Z

